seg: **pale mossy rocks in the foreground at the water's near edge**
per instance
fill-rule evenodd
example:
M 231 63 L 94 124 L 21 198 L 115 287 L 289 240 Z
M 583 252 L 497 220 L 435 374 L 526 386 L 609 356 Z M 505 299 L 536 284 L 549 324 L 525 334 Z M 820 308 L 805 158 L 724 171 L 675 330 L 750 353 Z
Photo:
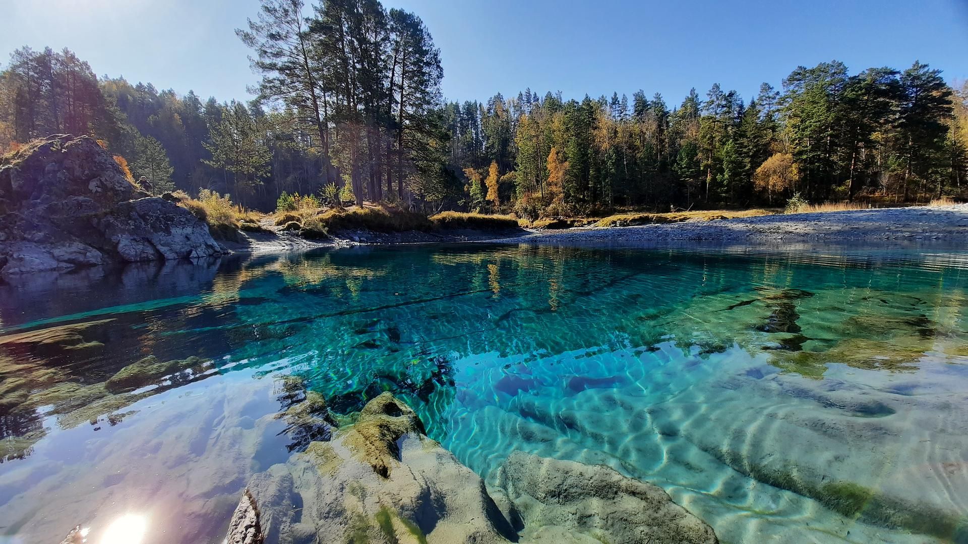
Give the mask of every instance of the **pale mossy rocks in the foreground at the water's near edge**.
M 611 468 L 515 454 L 493 493 L 383 393 L 331 440 L 256 474 L 236 516 L 254 527 L 256 512 L 267 543 L 716 542 L 661 489 Z M 236 533 L 251 535 L 231 532 L 228 544 L 248 542 Z

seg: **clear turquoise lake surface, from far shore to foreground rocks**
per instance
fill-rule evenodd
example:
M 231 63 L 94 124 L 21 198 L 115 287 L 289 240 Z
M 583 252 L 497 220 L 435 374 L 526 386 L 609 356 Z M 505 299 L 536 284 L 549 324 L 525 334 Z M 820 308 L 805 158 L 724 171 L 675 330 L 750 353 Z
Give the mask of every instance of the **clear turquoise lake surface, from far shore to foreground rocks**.
M 968 542 L 965 266 L 461 245 L 17 279 L 0 542 L 221 541 L 252 474 L 328 438 L 275 417 L 287 376 L 340 417 L 392 391 L 485 478 L 514 450 L 616 468 L 723 542 Z

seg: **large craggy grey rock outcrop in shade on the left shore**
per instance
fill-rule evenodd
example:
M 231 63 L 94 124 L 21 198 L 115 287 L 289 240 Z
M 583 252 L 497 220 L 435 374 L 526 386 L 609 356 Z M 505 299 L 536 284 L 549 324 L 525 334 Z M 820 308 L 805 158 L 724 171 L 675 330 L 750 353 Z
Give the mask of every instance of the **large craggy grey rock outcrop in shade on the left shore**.
M 224 253 L 208 227 L 129 182 L 87 136 L 50 136 L 0 162 L 0 276 Z

